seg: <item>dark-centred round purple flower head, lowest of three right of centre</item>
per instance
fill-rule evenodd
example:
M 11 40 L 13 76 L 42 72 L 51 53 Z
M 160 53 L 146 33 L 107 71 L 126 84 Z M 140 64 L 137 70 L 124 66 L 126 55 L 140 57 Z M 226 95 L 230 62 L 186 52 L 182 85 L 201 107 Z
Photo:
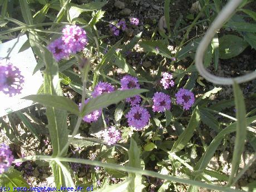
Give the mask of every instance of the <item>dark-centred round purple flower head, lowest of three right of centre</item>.
M 146 109 L 136 105 L 131 107 L 131 110 L 125 117 L 127 118 L 128 125 L 139 131 L 149 124 L 150 115 Z

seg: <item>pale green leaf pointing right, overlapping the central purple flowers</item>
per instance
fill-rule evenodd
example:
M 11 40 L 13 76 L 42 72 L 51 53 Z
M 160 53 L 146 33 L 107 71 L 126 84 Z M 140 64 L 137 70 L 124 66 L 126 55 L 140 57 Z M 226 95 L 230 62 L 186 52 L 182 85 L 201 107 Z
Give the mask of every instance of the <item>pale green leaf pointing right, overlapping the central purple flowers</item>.
M 144 89 L 131 89 L 131 90 L 118 90 L 111 93 L 103 93 L 100 96 L 90 99 L 90 101 L 85 105 L 83 110 L 81 111 L 81 116 L 85 116 L 90 114 L 90 112 L 102 109 L 111 104 L 116 104 L 117 102 L 126 99 L 127 97 L 131 97 L 137 95 L 142 92 L 146 92 Z

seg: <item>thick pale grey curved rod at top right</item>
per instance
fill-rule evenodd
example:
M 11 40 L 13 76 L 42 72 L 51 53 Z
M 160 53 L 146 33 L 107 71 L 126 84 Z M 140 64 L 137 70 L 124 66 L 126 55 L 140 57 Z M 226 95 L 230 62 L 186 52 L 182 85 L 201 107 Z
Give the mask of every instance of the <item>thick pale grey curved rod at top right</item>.
M 215 18 L 208 31 L 205 33 L 205 36 L 201 40 L 195 55 L 195 66 L 197 70 L 200 72 L 201 76 L 203 76 L 206 80 L 213 82 L 218 85 L 232 85 L 234 81 L 237 83 L 242 83 L 246 81 L 253 80 L 256 77 L 256 71 L 249 73 L 247 75 L 243 75 L 235 78 L 226 78 L 226 77 L 218 77 L 215 75 L 211 75 L 208 71 L 205 70 L 203 65 L 203 58 L 205 50 L 213 39 L 215 32 L 220 29 L 223 24 L 227 21 L 227 19 L 232 15 L 235 9 L 240 5 L 243 0 L 230 0 L 227 5 L 221 10 L 218 16 Z

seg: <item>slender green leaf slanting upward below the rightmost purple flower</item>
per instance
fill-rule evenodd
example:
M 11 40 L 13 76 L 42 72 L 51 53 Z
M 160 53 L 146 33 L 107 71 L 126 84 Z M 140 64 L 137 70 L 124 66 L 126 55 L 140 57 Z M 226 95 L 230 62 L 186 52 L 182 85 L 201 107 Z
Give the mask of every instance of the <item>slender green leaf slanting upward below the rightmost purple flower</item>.
M 196 107 L 191 115 L 189 120 L 189 125 L 186 127 L 185 131 L 181 135 L 179 135 L 178 140 L 174 142 L 173 147 L 171 148 L 171 152 L 178 152 L 183 149 L 193 137 L 194 130 L 199 126 L 199 111 L 198 107 Z

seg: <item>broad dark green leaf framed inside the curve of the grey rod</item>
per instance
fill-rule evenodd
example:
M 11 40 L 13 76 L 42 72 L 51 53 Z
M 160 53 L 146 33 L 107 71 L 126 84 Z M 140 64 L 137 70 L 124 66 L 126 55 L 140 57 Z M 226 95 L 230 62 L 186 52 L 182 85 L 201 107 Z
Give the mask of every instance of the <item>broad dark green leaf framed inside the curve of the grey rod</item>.
M 238 56 L 249 45 L 242 38 L 235 35 L 224 35 L 219 39 L 220 58 L 228 59 Z

